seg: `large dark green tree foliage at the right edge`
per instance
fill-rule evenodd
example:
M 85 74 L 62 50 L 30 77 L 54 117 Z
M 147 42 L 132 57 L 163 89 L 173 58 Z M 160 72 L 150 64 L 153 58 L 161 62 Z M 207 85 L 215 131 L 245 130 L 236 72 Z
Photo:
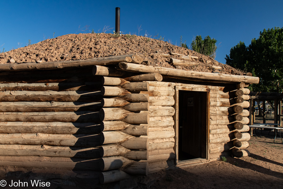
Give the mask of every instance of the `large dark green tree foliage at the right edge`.
M 259 33 L 246 47 L 240 42 L 226 55 L 226 64 L 259 77 L 253 91 L 283 92 L 283 27 L 274 27 Z

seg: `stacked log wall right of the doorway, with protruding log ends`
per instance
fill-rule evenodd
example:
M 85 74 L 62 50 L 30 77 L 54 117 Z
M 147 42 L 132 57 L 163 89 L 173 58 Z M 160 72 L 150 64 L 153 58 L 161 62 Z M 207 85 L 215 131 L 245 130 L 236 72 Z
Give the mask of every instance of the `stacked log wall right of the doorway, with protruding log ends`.
M 236 84 L 232 90 L 211 90 L 210 95 L 210 146 L 209 158 L 233 154 L 247 156 L 249 131 L 249 90 L 245 83 Z M 215 97 L 219 97 L 214 98 Z

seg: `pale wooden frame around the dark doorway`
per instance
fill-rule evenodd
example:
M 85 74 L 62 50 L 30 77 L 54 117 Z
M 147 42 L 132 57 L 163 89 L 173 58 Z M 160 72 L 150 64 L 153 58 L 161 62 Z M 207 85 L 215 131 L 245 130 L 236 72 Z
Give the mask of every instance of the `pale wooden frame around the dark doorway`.
M 196 91 L 196 92 L 208 92 L 207 93 L 207 121 L 206 121 L 206 159 L 203 158 L 197 158 L 197 159 L 188 159 L 184 161 L 178 161 L 178 143 L 179 143 L 179 90 L 185 90 L 185 91 Z M 202 162 L 208 162 L 209 161 L 209 107 L 210 107 L 210 89 L 203 87 L 203 88 L 195 88 L 195 87 L 183 87 L 183 86 L 175 86 L 175 115 L 174 115 L 174 127 L 175 127 L 175 165 L 183 166 L 183 165 L 189 165 L 189 164 L 199 164 Z

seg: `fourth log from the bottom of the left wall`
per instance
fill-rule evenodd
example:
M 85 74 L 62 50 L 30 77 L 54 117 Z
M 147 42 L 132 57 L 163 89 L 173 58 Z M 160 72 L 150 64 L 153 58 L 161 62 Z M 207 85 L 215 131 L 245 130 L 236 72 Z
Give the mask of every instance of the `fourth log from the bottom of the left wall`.
M 96 123 L 0 122 L 0 133 L 98 134 Z

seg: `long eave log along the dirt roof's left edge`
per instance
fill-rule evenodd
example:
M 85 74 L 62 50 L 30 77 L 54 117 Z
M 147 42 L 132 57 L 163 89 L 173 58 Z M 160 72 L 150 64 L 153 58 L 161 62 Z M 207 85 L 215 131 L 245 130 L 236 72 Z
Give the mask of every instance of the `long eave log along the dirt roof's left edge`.
M 72 61 L 61 61 L 61 62 L 43 62 L 43 63 L 21 63 L 21 64 L 1 64 L 0 71 L 19 71 L 19 70 L 53 70 L 61 69 L 66 67 L 83 67 L 91 65 L 107 65 L 115 64 L 119 62 L 127 62 L 127 57 L 133 57 L 134 55 L 120 55 L 120 56 L 109 56 L 101 58 L 91 58 L 86 60 L 72 60 Z

